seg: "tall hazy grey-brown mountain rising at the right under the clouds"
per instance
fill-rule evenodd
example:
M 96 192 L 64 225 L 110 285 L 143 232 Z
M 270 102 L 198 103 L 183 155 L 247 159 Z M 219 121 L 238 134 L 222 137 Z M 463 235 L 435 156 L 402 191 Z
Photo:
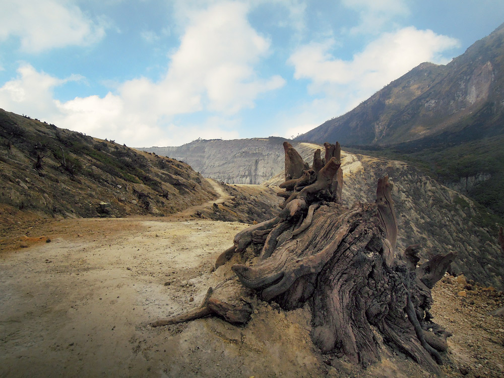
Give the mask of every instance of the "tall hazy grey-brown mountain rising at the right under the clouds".
M 504 24 L 446 66 L 423 63 L 296 140 L 395 145 L 504 133 Z

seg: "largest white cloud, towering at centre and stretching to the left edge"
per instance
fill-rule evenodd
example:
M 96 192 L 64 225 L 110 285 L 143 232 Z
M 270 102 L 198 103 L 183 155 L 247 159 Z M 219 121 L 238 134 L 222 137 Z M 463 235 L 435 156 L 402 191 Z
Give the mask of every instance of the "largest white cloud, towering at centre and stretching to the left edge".
M 0 103 L 11 111 L 129 146 L 236 138 L 237 132 L 225 126 L 234 114 L 254 107 L 261 93 L 285 83 L 280 76 L 261 78 L 256 73 L 255 66 L 270 53 L 270 41 L 249 25 L 247 11 L 243 4 L 219 2 L 191 13 L 158 82 L 141 77 L 118 84 L 104 97 L 61 102 L 54 98 L 53 88 L 82 78 L 58 79 L 24 65 L 19 78 L 0 88 Z M 219 117 L 207 116 L 200 125 L 186 127 L 173 123 L 176 115 L 201 111 Z

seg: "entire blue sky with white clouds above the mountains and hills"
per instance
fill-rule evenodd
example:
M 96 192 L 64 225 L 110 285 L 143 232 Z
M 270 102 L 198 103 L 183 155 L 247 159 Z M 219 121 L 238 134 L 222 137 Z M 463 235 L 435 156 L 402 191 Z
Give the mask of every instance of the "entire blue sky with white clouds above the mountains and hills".
M 132 147 L 295 136 L 504 22 L 502 0 L 0 5 L 0 108 Z

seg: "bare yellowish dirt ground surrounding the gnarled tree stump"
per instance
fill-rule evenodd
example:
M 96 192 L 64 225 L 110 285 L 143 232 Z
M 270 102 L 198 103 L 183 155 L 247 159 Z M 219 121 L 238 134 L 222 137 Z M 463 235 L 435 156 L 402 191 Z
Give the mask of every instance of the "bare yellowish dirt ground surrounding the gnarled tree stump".
M 310 341 L 306 309 L 286 312 L 259 300 L 245 327 L 215 318 L 150 327 L 197 306 L 229 274 L 210 271 L 247 226 L 189 213 L 25 220 L 6 231 L 0 376 L 428 376 L 388 350 L 367 370 L 344 359 L 330 366 Z M 502 305 L 501 293 L 475 286 L 461 297 L 454 279 L 444 281 L 434 289 L 433 314 L 454 333 L 445 373 L 504 376 L 504 321 L 488 315 Z

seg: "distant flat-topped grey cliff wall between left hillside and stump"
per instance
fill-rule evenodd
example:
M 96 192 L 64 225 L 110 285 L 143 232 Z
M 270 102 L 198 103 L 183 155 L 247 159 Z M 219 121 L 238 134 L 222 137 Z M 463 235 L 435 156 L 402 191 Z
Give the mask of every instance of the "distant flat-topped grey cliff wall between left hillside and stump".
M 285 140 L 278 137 L 196 140 L 180 147 L 139 149 L 182 160 L 205 177 L 231 184 L 260 184 L 277 174 L 278 167 L 283 167 Z M 294 147 L 298 145 L 295 143 Z

